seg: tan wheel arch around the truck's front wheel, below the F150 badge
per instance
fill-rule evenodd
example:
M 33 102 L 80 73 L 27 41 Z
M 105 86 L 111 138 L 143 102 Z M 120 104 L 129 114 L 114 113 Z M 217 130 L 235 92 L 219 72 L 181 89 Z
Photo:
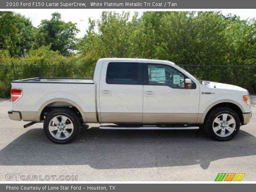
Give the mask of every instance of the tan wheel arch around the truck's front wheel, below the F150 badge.
M 240 118 L 241 124 L 243 124 L 243 122 L 244 122 L 243 113 L 245 111 L 244 111 L 244 109 L 242 108 L 242 106 L 238 102 L 235 102 L 233 100 L 220 100 L 220 101 L 216 101 L 216 102 L 212 103 L 210 106 L 208 106 L 208 108 L 206 108 L 206 110 L 202 114 L 201 119 L 198 116 L 198 123 L 199 124 L 203 124 L 205 118 L 210 113 L 210 111 L 212 111 L 216 107 L 221 107 L 221 106 L 222 107 L 228 107 L 228 108 L 231 108 L 234 111 L 236 111 L 238 116 L 239 116 L 239 118 Z

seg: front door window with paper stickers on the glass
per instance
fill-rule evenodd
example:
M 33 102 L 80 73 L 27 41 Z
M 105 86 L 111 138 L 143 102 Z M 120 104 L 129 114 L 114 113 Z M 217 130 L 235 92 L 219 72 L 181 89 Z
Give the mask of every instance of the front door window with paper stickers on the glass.
M 148 64 L 148 84 L 185 88 L 185 76 L 168 65 Z

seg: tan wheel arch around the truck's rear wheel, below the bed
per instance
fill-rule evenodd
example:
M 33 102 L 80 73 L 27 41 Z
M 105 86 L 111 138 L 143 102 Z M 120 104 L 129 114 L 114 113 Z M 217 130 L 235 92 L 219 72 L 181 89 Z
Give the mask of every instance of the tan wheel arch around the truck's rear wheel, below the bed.
M 83 119 L 83 122 L 86 122 L 86 116 L 85 116 L 82 108 L 76 102 L 66 99 L 66 98 L 55 98 L 55 99 L 48 100 L 47 102 L 42 104 L 42 106 L 39 108 L 38 113 L 37 113 L 37 117 L 36 117 L 37 122 L 41 122 L 42 115 L 48 107 L 54 107 L 54 106 L 55 107 L 72 106 L 80 113 L 80 115 Z

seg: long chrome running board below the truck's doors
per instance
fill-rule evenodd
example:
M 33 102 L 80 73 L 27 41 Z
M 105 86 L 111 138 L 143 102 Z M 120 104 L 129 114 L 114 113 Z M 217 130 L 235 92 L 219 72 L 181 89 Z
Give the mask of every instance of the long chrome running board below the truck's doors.
M 180 126 L 180 127 L 169 127 L 169 126 L 100 126 L 100 129 L 106 130 L 196 130 L 198 126 Z

